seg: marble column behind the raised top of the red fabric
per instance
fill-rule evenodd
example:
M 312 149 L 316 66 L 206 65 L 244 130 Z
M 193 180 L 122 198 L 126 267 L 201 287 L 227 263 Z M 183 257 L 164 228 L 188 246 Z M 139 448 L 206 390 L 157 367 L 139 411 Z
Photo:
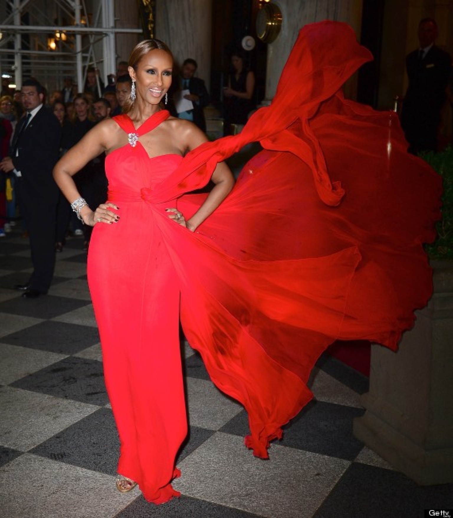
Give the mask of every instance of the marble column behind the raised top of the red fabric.
M 268 47 L 264 104 L 270 103 L 275 95 L 283 66 L 293 48 L 299 30 L 305 24 L 322 20 L 346 22 L 353 27 L 359 38 L 362 19 L 362 0 L 317 0 L 316 2 L 276 0 L 274 3 L 282 11 L 283 23 L 279 36 Z M 352 95 L 349 95 L 351 93 Z M 350 97 L 354 93 L 354 84 L 348 85 L 345 94 Z

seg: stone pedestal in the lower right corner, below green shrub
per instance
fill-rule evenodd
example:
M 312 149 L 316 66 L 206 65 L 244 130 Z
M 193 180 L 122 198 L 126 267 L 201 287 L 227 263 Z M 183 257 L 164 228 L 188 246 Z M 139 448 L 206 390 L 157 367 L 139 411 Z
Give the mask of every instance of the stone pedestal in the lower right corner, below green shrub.
M 358 439 L 421 485 L 453 482 L 453 266 L 433 267 L 434 294 L 399 351 L 373 346 L 354 422 Z

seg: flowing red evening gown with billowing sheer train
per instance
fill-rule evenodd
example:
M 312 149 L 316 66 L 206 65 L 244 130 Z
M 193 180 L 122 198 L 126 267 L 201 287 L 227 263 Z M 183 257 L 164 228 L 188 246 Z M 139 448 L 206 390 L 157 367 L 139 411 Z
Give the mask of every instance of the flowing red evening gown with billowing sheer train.
M 178 495 L 175 458 L 186 434 L 178 318 L 212 381 L 249 414 L 247 447 L 266 458 L 282 425 L 311 399 L 320 354 L 337 339 L 396 349 L 431 296 L 422 243 L 433 239 L 441 183 L 406 153 L 393 112 L 345 100 L 344 81 L 369 52 L 345 24 L 306 25 L 271 106 L 243 132 L 184 158 L 141 146 L 107 156 L 121 219 L 96 225 L 89 283 L 107 390 L 121 440 L 118 471 L 147 500 Z M 160 111 L 138 136 L 168 117 Z M 188 219 L 217 162 L 251 141 L 224 203 L 195 233 Z M 332 179 L 332 180 L 331 180 Z M 290 433 L 290 431 L 288 432 Z

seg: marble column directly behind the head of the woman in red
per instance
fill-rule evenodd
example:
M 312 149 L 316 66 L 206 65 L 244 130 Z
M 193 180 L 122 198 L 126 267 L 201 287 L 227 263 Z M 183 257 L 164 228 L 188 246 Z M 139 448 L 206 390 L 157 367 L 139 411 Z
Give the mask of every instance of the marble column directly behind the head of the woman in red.
M 212 0 L 156 0 L 156 38 L 170 47 L 181 65 L 191 57 L 196 76 L 209 90 L 211 76 Z

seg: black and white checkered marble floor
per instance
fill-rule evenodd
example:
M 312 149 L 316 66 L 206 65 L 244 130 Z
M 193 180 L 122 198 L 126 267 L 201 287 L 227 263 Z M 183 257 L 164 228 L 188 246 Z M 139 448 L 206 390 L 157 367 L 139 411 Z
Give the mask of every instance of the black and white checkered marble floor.
M 268 516 L 399 518 L 453 508 L 453 485 L 419 487 L 354 438 L 368 380 L 324 356 L 316 399 L 272 444 L 270 461 L 243 446 L 242 407 L 182 345 L 190 434 L 179 455 L 182 497 L 164 506 L 115 489 L 118 436 L 103 381 L 82 239 L 57 254 L 47 296 L 22 299 L 27 240 L 0 241 L 0 516 L 140 518 Z

